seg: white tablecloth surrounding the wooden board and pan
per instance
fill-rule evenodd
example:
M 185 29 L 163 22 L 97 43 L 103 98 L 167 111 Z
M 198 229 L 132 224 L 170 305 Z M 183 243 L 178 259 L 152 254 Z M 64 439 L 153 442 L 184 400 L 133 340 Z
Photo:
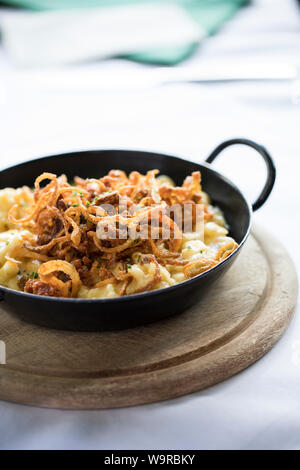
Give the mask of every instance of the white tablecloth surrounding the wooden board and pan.
M 299 64 L 299 50 L 296 2 L 256 0 L 202 44 L 188 63 L 204 67 L 212 59 L 253 59 Z M 144 68 L 110 60 L 59 73 L 79 71 L 85 76 L 103 70 L 115 77 Z M 201 161 L 223 139 L 252 138 L 268 148 L 278 169 L 274 192 L 255 220 L 289 247 L 299 269 L 300 104 L 291 99 L 288 84 L 45 92 L 23 86 L 21 73 L 0 49 L 2 167 L 40 155 L 109 147 L 157 150 Z M 39 71 L 30 73 L 39 80 Z M 216 166 L 254 199 L 263 184 L 264 165 L 251 150 L 227 151 Z M 256 364 L 179 399 L 99 411 L 0 402 L 0 448 L 300 449 L 299 313 L 298 307 L 286 334 Z

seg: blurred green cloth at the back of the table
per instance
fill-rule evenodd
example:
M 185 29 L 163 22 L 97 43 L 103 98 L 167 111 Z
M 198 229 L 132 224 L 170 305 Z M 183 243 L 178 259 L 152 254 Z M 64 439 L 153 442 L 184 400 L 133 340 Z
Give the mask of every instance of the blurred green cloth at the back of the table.
M 86 9 L 132 5 L 135 3 L 173 3 L 183 7 L 201 30 L 205 31 L 207 35 L 211 35 L 231 18 L 240 7 L 249 2 L 250 0 L 6 0 L 4 3 L 36 11 Z M 126 55 L 126 58 L 139 62 L 176 65 L 189 57 L 196 48 L 197 44 L 186 44 L 129 54 Z

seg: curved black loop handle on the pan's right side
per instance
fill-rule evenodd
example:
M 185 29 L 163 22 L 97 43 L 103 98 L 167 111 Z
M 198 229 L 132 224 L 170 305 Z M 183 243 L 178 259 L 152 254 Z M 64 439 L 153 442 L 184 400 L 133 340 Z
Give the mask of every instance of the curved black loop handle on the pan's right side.
M 255 149 L 264 159 L 267 165 L 267 180 L 265 182 L 265 185 L 256 199 L 256 201 L 252 204 L 252 209 L 253 211 L 256 211 L 259 209 L 268 199 L 274 183 L 275 183 L 275 178 L 276 178 L 276 168 L 274 166 L 274 162 L 269 154 L 269 152 L 260 144 L 257 144 L 256 142 L 253 142 L 253 140 L 249 139 L 230 139 L 226 140 L 225 142 L 222 142 L 222 144 L 218 145 L 217 148 L 208 156 L 208 158 L 205 160 L 207 163 L 212 163 L 215 158 L 221 153 L 224 149 L 229 147 L 230 145 L 236 145 L 236 144 L 242 144 L 242 145 L 247 145 L 248 147 L 251 147 Z

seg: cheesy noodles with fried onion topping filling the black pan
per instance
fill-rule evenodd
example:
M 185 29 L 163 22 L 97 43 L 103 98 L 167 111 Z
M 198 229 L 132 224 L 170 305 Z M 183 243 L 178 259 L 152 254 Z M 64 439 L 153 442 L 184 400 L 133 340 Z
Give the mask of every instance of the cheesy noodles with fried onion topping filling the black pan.
M 201 274 L 238 244 L 202 191 L 158 170 L 96 179 L 43 173 L 0 190 L 0 284 L 36 295 L 112 298 Z

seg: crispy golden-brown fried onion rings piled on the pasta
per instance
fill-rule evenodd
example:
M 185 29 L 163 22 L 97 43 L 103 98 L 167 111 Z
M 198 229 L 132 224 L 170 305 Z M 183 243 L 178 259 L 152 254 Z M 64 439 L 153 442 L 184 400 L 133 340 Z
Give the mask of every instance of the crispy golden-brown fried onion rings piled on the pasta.
M 127 176 L 111 170 L 100 179 L 75 177 L 73 184 L 65 175 L 40 175 L 34 190 L 27 188 L 31 204 L 22 210 L 22 217 L 18 217 L 17 204 L 8 215 L 12 224 L 27 227 L 34 234 L 18 248 L 18 256 L 42 263 L 38 278 L 28 279 L 24 290 L 76 297 L 81 285 L 101 288 L 112 283 L 120 295 L 126 295 L 134 263 L 155 264 L 153 279 L 142 289 L 148 291 L 159 285 L 159 264 L 182 266 L 185 277 L 190 278 L 228 256 L 236 248 L 234 244 L 220 249 L 213 261 L 182 258 L 181 228 L 168 208 L 177 204 L 180 212 L 189 203 L 188 217 L 196 230 L 201 175 L 194 172 L 181 187 L 175 187 L 156 178 L 158 173 L 133 171 Z M 204 218 L 211 217 L 211 207 L 204 204 Z

